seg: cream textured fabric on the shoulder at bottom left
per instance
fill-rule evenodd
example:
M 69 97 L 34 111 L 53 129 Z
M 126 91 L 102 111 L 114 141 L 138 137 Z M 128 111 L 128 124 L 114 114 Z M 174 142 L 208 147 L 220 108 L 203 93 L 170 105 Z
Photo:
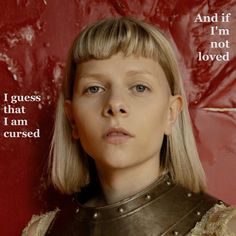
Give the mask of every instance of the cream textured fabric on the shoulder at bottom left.
M 28 225 L 24 228 L 22 236 L 43 236 L 47 232 L 49 225 L 55 218 L 59 209 L 49 211 L 41 215 L 33 215 Z

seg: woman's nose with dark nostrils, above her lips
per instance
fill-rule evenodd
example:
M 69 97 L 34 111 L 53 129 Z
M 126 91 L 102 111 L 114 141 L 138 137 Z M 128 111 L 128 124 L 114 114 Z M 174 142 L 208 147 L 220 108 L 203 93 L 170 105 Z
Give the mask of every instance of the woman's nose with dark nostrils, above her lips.
M 128 104 L 125 101 L 125 98 L 121 94 L 111 93 L 105 102 L 103 109 L 103 115 L 105 117 L 110 116 L 121 116 L 127 117 L 129 115 Z

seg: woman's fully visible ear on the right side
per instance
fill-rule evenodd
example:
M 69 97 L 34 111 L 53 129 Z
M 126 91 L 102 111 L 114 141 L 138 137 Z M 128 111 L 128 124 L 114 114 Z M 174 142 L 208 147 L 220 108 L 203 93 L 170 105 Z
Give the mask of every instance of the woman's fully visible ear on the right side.
M 177 120 L 179 113 L 181 112 L 183 107 L 183 98 L 180 95 L 175 95 L 170 97 L 168 114 L 167 114 L 167 122 L 164 133 L 166 135 L 170 135 L 172 132 L 172 126 Z

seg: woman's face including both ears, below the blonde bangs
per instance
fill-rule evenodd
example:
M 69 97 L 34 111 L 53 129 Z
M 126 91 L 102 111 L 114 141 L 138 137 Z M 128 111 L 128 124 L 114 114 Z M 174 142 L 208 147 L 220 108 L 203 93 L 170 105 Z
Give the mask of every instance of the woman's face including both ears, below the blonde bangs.
M 119 53 L 78 66 L 73 99 L 65 108 L 73 137 L 96 164 L 116 169 L 159 160 L 180 100 L 171 96 L 157 62 Z

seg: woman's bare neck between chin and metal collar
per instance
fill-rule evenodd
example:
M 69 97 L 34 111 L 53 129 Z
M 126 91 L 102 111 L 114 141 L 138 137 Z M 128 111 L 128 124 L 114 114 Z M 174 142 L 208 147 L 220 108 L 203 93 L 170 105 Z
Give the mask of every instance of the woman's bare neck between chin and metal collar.
M 155 182 L 159 174 L 159 159 L 122 169 L 110 169 L 96 164 L 105 202 L 111 204 L 132 196 Z

